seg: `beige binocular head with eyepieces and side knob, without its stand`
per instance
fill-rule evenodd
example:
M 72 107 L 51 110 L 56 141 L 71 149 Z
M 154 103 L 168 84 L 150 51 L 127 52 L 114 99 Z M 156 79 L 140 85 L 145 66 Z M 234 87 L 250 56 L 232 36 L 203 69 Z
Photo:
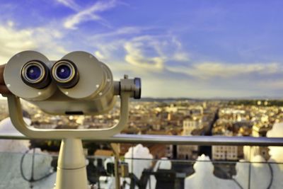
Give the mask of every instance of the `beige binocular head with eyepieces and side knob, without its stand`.
M 88 52 L 70 52 L 50 61 L 40 52 L 11 57 L 4 81 L 15 96 L 52 115 L 100 115 L 115 105 L 121 91 L 141 98 L 141 79 L 113 81 L 112 72 Z

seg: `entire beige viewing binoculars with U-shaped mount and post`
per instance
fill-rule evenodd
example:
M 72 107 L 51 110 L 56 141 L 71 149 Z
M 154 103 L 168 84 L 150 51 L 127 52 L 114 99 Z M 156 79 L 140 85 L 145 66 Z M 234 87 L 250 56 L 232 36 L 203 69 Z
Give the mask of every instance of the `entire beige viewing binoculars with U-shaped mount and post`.
M 6 64 L 4 81 L 11 121 L 25 136 L 62 139 L 55 189 L 88 188 L 81 139 L 111 137 L 128 120 L 129 98 L 141 98 L 141 80 L 113 81 L 110 69 L 87 52 L 71 52 L 50 61 L 40 52 L 24 51 Z M 108 113 L 120 96 L 120 120 L 103 129 L 37 129 L 23 121 L 19 98 L 52 115 L 100 115 Z

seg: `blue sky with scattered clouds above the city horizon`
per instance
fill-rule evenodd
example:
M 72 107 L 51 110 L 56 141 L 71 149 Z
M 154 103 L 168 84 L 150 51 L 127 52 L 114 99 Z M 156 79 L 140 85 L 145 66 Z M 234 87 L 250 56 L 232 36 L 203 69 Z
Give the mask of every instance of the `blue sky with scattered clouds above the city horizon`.
M 282 97 L 283 1 L 0 1 L 0 62 L 91 52 L 146 97 Z

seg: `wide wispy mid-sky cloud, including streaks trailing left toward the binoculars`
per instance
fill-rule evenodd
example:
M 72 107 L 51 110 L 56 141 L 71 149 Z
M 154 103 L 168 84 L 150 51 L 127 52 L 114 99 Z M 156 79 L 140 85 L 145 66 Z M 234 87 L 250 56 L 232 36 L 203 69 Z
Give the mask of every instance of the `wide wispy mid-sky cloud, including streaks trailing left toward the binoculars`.
M 140 71 L 162 71 L 171 62 L 189 61 L 189 55 L 174 36 L 140 35 L 148 29 L 125 27 L 93 35 L 95 55 L 108 62 L 125 61 Z

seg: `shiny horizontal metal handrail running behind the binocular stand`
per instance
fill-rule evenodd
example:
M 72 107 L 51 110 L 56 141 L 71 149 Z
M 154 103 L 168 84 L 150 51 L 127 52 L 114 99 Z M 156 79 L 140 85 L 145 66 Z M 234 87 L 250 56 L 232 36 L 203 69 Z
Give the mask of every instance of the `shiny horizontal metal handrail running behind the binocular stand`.
M 32 139 L 21 133 L 0 132 L 0 139 Z M 155 134 L 116 134 L 113 137 L 85 139 L 107 143 L 154 143 L 154 144 L 189 144 L 200 146 L 278 146 L 283 147 L 283 138 L 269 137 L 225 137 L 225 136 L 177 136 Z

